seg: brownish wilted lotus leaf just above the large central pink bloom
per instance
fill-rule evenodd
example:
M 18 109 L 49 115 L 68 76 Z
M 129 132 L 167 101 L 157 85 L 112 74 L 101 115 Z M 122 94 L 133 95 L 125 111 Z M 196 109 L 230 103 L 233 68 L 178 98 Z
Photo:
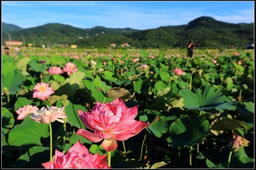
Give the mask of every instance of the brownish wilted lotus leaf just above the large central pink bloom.
M 106 91 L 106 96 L 109 98 L 120 97 L 125 102 L 133 98 L 133 95 L 131 95 L 130 92 L 125 88 L 110 88 Z

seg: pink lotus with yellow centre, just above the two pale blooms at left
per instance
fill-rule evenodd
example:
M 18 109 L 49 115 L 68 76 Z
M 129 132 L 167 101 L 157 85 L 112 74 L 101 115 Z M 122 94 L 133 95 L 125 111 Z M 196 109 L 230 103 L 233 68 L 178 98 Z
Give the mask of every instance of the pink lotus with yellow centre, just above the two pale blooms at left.
M 49 87 L 49 84 L 40 82 L 33 88 L 33 98 L 45 100 L 51 94 L 54 93 L 53 89 Z

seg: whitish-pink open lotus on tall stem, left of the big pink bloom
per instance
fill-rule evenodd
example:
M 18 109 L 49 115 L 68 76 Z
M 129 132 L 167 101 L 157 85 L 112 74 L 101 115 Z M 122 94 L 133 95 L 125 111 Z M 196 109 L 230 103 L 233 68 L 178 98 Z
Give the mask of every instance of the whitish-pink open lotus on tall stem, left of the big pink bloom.
M 49 124 L 49 122 L 55 122 L 57 120 L 58 122 L 64 123 L 62 119 L 67 118 L 67 114 L 65 114 L 64 108 L 58 108 L 55 106 L 52 106 L 51 108 L 49 106 L 42 107 L 40 110 L 35 111 L 30 118 L 35 120 L 35 122 L 38 123 L 46 123 Z

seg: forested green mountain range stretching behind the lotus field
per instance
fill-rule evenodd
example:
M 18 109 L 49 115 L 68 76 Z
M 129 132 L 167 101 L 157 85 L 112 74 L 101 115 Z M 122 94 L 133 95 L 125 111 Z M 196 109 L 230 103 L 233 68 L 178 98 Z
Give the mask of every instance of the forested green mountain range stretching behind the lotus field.
M 34 39 L 36 46 L 56 43 L 108 48 L 111 43 L 120 45 L 127 42 L 135 48 L 185 48 L 189 41 L 193 40 L 198 48 L 245 48 L 246 44 L 254 42 L 254 23 L 231 24 L 214 20 L 212 17 L 199 17 L 187 25 L 148 30 L 101 26 L 82 29 L 51 23 L 9 33 L 12 40 L 22 40 L 20 36 L 23 35 L 26 44 L 33 43 Z M 8 35 L 2 32 L 2 43 L 6 40 Z

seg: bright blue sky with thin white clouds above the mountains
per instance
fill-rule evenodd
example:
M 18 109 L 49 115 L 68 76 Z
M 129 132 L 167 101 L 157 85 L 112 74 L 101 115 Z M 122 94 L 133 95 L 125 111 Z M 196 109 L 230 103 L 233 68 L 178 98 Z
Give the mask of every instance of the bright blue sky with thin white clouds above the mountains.
M 78 28 L 153 29 L 201 16 L 254 23 L 254 1 L 1 1 L 2 22 L 21 28 L 61 23 Z

